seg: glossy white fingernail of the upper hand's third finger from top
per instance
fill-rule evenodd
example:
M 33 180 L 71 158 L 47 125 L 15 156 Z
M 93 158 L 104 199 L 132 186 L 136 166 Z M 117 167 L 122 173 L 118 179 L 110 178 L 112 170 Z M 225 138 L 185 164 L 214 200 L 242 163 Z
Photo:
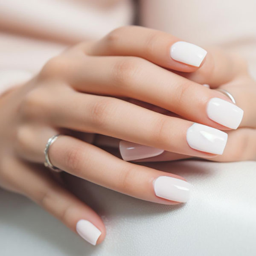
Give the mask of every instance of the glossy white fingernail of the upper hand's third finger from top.
M 223 154 L 227 134 L 207 125 L 194 123 L 187 130 L 186 140 L 191 148 L 212 154 Z

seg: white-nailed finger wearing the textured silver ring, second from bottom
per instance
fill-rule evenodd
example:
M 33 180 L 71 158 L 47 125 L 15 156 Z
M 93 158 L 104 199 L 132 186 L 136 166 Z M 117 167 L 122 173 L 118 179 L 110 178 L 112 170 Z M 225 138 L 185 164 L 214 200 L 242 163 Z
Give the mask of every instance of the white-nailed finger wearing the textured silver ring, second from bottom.
M 174 204 L 189 197 L 190 185 L 182 177 L 122 161 L 73 137 L 59 137 L 49 155 L 52 164 L 64 171 L 135 198 Z M 161 183 L 169 186 L 163 194 L 159 192 Z

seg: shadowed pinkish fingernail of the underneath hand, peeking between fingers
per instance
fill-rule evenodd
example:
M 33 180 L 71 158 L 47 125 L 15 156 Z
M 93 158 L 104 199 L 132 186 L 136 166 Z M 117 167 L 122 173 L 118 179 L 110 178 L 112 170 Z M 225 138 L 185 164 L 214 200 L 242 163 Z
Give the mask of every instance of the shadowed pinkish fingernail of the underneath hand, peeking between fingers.
M 121 140 L 119 150 L 122 159 L 125 161 L 138 160 L 148 157 L 155 157 L 163 153 L 163 149 L 152 148 L 137 143 Z

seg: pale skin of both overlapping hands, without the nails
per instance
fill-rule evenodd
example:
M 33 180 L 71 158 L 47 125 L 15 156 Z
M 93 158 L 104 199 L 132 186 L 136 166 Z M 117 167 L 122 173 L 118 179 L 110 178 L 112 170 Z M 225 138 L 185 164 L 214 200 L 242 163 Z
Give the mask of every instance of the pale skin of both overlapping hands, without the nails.
M 180 40 L 142 27 L 119 28 L 99 41 L 70 47 L 32 80 L 4 94 L 0 98 L 0 186 L 31 198 L 74 232 L 77 221 L 90 221 L 102 232 L 99 244 L 106 235 L 99 215 L 67 191 L 58 174 L 43 166 L 44 148 L 52 135 L 66 134 L 50 147 L 54 166 L 160 204 L 178 202 L 157 197 L 154 179 L 183 177 L 125 162 L 99 145 L 115 146 L 116 141 L 127 140 L 165 150 L 149 161 L 255 160 L 256 83 L 244 60 L 208 49 L 201 66 L 192 67 L 169 56 L 170 46 Z M 244 110 L 237 130 L 207 117 L 209 99 L 230 101 L 213 90 L 217 87 L 228 90 Z M 228 133 L 223 155 L 189 147 L 186 131 L 193 122 Z

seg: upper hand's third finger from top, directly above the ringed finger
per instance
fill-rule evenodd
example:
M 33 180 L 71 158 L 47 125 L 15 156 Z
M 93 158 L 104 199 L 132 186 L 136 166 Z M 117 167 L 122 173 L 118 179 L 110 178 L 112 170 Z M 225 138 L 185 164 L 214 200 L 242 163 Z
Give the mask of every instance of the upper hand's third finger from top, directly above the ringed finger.
M 215 128 L 155 113 L 120 99 L 75 92 L 64 101 L 66 107 L 58 101 L 52 106 L 52 115 L 58 116 L 51 120 L 55 127 L 199 157 L 222 154 L 227 141 L 227 134 Z

